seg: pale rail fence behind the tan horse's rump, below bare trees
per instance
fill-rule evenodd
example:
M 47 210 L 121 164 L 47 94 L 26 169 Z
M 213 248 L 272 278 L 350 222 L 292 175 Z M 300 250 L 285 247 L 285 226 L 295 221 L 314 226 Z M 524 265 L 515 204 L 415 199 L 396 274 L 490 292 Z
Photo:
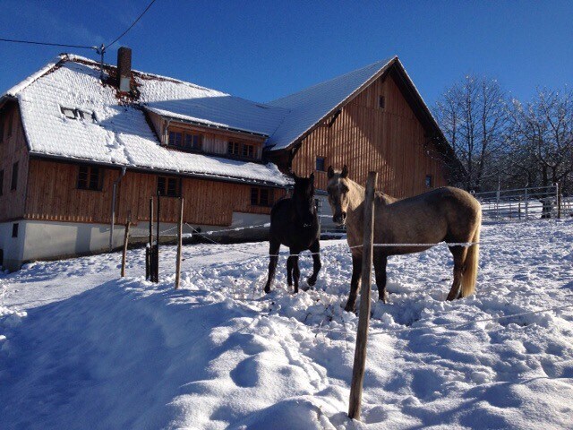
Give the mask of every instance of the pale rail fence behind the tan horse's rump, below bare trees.
M 573 213 L 573 204 L 560 196 L 559 185 L 475 193 L 483 219 L 560 218 Z

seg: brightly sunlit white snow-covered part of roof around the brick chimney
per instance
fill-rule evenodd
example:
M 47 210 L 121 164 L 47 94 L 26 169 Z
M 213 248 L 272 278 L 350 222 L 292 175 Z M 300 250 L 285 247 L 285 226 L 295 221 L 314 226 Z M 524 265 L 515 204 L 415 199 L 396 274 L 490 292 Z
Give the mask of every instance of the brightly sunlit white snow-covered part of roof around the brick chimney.
M 193 98 L 230 98 L 220 91 L 154 75 L 136 73 L 135 80 L 140 84 L 141 100 L 148 106 L 157 104 L 158 108 L 165 104 L 191 105 L 188 100 Z M 4 96 L 19 100 L 24 133 L 32 154 L 275 185 L 289 182 L 274 165 L 161 146 L 141 106 L 119 100 L 116 90 L 99 80 L 98 64 L 81 57 L 59 57 Z M 252 105 L 246 100 L 230 99 L 243 106 Z M 65 107 L 81 110 L 83 118 L 66 117 L 62 111 Z M 218 117 L 224 120 L 223 114 Z

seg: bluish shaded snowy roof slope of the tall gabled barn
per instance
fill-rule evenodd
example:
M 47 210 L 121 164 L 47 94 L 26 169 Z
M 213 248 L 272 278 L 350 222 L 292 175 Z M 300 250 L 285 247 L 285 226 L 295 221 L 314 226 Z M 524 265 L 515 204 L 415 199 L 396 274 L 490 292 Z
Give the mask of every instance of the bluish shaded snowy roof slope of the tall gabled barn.
M 273 150 L 284 149 L 308 132 L 325 116 L 343 104 L 351 96 L 370 83 L 395 58 L 378 61 L 354 72 L 343 74 L 310 88 L 295 92 L 290 96 L 268 103 L 271 107 L 282 107 L 289 110 L 284 121 L 278 125 L 267 144 Z

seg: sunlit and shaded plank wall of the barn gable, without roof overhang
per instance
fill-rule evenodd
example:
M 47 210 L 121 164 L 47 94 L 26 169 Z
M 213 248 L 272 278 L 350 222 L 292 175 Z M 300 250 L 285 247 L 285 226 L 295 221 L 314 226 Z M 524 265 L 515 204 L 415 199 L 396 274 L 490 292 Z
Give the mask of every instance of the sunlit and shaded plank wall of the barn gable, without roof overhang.
M 385 97 L 384 109 L 380 96 Z M 433 186 L 447 185 L 440 155 L 426 144 L 423 125 L 391 76 L 372 82 L 331 127 L 330 119 L 304 139 L 293 159 L 297 175 L 315 172 L 317 188 L 326 188 L 327 174 L 316 172 L 316 157 L 325 158 L 325 169 L 346 164 L 350 178 L 361 185 L 368 171 L 376 170 L 377 189 L 400 198 L 427 191 L 426 175 L 432 175 Z

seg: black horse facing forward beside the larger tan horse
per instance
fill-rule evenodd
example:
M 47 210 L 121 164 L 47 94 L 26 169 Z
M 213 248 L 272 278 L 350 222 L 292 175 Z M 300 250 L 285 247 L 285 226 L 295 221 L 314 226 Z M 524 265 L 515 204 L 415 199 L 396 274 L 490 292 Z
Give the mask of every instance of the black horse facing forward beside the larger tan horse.
M 288 246 L 290 255 L 286 261 L 286 279 L 288 287 L 295 280 L 295 293 L 298 293 L 298 255 L 306 249 L 312 253 L 312 276 L 307 280 L 309 286 L 316 283 L 321 270 L 321 225 L 314 204 L 314 174 L 308 178 L 294 175 L 295 190 L 293 196 L 275 203 L 270 211 L 269 236 L 269 279 L 265 293 L 270 292 L 270 284 L 277 269 L 280 245 Z

